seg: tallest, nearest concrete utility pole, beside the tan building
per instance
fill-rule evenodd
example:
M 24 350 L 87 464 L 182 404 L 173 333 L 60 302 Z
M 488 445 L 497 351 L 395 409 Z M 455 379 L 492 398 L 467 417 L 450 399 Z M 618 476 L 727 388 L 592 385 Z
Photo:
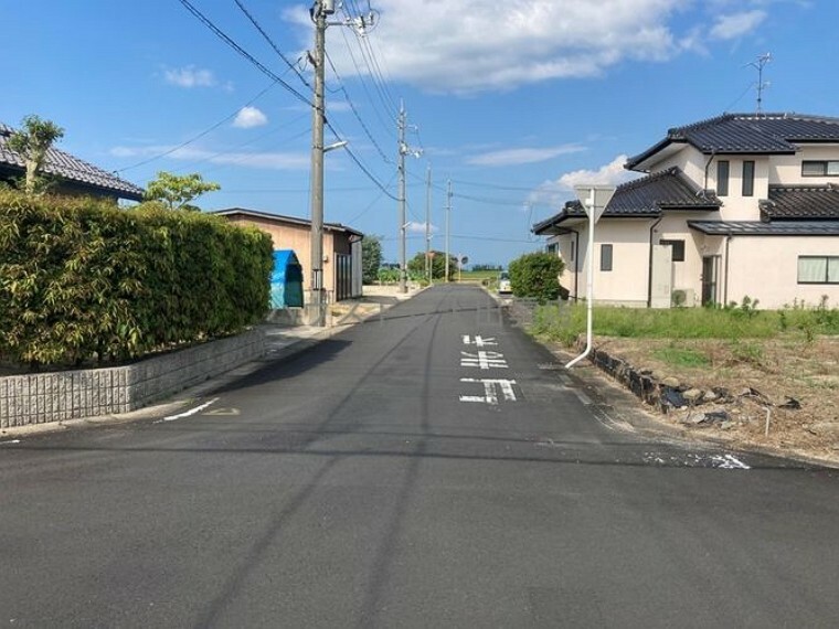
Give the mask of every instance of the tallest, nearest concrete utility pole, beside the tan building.
M 326 324 L 323 299 L 323 99 L 327 15 L 334 13 L 333 0 L 316 0 L 311 9 L 315 22 L 315 103 L 311 108 L 311 233 L 309 303 L 307 319 L 311 326 Z

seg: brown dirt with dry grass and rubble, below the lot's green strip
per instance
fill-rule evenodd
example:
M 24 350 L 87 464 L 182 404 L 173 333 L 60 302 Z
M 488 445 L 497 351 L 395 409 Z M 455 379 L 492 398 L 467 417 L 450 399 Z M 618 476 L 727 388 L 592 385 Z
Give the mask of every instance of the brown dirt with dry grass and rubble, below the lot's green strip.
M 595 347 L 638 371 L 652 372 L 659 382 L 675 379 L 667 382 L 683 394 L 687 405 L 667 414 L 654 412 L 660 422 L 734 446 L 839 463 L 839 338 L 597 338 Z M 673 352 L 702 356 L 703 364 L 663 360 Z

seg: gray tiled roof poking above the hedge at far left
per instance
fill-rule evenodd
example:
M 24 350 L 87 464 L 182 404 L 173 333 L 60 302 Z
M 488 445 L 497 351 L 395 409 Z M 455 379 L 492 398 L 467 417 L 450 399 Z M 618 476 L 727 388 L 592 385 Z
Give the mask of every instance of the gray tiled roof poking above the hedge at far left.
M 14 129 L 0 122 L 0 169 L 13 170 L 23 174 L 25 164 L 23 158 L 6 146 L 6 141 Z M 46 151 L 43 171 L 56 175 L 67 182 L 92 191 L 111 194 L 119 199 L 141 201 L 142 188 L 120 179 L 109 172 L 64 152 L 55 147 Z

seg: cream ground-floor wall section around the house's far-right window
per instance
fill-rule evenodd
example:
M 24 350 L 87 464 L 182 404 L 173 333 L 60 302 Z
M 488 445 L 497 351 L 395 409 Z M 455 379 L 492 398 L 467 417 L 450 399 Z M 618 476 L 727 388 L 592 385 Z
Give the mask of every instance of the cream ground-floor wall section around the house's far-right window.
M 798 284 L 798 256 L 837 256 L 836 237 L 740 236 L 729 243 L 728 301 L 744 296 L 760 299 L 761 309 L 792 306 L 795 299 L 813 307 L 828 296 L 839 306 L 838 284 Z

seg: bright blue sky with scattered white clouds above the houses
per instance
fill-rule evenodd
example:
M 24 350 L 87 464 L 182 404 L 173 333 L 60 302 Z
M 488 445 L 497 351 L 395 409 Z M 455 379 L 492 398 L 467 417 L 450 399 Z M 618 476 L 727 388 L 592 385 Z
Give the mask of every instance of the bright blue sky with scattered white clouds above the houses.
M 161 170 L 199 172 L 222 186 L 204 210 L 308 217 L 310 4 L 189 2 L 298 94 L 181 0 L 0 0 L 0 121 L 51 119 L 65 129 L 60 148 L 140 185 Z M 669 127 L 754 111 L 750 64 L 762 54 L 764 111 L 839 116 L 833 1 L 347 0 L 336 20 L 371 10 L 364 36 L 327 31 L 328 117 L 364 168 L 328 153 L 325 220 L 383 236 L 389 260 L 400 100 L 423 151 L 407 159 L 408 257 L 425 248 L 431 167 L 434 248 L 450 179 L 452 253 L 503 265 L 540 247 L 530 228 L 574 183 L 625 181 L 626 156 Z

